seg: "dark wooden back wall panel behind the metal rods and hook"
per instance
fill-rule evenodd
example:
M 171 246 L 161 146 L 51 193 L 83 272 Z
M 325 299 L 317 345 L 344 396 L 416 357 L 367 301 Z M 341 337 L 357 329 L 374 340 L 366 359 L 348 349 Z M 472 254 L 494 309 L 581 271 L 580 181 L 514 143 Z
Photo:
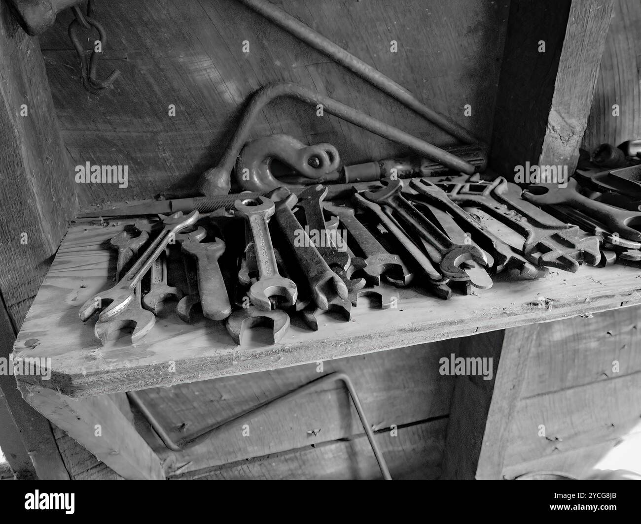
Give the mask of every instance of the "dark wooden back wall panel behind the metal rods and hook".
M 312 4 L 285 0 L 286 12 L 377 67 L 433 109 L 486 142 L 494 115 L 507 2 L 399 0 Z M 274 81 L 318 90 L 437 145 L 453 139 L 323 54 L 235 0 L 126 0 L 97 3 L 108 33 L 99 70 L 122 75 L 112 90 L 88 95 L 67 40 L 71 15 L 41 38 L 54 104 L 74 165 L 129 165 L 129 187 L 83 184 L 83 206 L 149 198 L 172 184 L 193 186 L 219 160 L 247 97 Z M 249 53 L 242 42 L 249 41 Z M 397 40 L 398 53 L 390 53 Z M 169 104 L 176 117 L 169 117 Z M 472 117 L 463 116 L 471 104 Z M 301 102 L 263 111 L 253 137 L 288 133 L 338 146 L 358 163 L 404 152 Z

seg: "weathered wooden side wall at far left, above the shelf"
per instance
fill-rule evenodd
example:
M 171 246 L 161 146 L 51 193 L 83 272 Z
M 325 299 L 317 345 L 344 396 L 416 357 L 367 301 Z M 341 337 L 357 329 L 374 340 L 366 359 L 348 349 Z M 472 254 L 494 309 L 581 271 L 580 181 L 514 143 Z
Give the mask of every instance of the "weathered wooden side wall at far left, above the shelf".
M 6 3 L 0 6 L 0 48 L 0 293 L 18 331 L 76 197 L 38 40 L 22 31 Z

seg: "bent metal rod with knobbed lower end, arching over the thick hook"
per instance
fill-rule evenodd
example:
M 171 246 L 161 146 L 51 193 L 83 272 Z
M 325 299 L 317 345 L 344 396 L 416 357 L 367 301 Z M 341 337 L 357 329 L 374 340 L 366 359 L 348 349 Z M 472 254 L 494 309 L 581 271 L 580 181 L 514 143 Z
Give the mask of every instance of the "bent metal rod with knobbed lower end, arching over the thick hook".
M 240 120 L 236 133 L 234 133 L 233 138 L 231 138 L 231 141 L 228 143 L 226 151 L 222 155 L 221 161 L 217 167 L 204 172 L 203 176 L 201 176 L 198 184 L 198 189 L 201 193 L 205 196 L 229 193 L 229 189 L 231 188 L 231 181 L 229 179 L 231 170 L 234 167 L 240 150 L 247 142 L 249 132 L 253 127 L 256 117 L 269 102 L 283 96 L 296 98 L 313 106 L 322 104 L 324 111 L 327 111 L 331 115 L 351 122 L 351 124 L 355 126 L 362 127 L 370 131 L 370 133 L 374 133 L 374 135 L 382 136 L 392 142 L 403 144 L 412 149 L 413 152 L 431 158 L 431 160 L 438 161 L 438 163 L 441 163 L 445 167 L 449 167 L 458 172 L 471 175 L 476 169 L 474 165 L 459 156 L 444 151 L 444 149 L 425 142 L 425 140 L 420 140 L 420 138 L 401 131 L 401 129 L 397 127 L 385 124 L 385 122 L 381 122 L 381 120 L 370 117 L 362 113 L 362 111 L 346 106 L 333 98 L 315 93 L 298 84 L 281 82 L 267 85 L 254 94 Z

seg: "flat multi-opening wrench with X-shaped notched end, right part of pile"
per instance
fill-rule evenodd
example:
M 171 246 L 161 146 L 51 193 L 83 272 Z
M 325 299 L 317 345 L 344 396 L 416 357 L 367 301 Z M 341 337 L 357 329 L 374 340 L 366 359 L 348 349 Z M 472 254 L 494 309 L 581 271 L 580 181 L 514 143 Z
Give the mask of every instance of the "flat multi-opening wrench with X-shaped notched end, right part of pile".
M 571 181 L 572 179 L 570 179 Z M 458 177 L 444 184 L 447 196 L 463 207 L 482 209 L 523 238 L 522 252 L 537 266 L 576 272 L 580 263 L 594 266 L 601 256 L 599 240 L 573 224 L 563 224 L 543 209 L 521 198 L 517 184 L 503 177 L 494 181 L 466 181 Z

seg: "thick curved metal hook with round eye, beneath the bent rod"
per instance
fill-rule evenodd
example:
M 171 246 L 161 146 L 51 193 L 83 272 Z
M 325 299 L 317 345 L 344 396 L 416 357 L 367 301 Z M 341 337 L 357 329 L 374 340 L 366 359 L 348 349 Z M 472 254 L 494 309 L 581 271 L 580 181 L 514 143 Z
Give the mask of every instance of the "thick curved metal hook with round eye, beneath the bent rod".
M 273 160 L 310 179 L 322 179 L 340 165 L 340 155 L 331 143 L 305 145 L 289 135 L 270 135 L 248 142 L 240 151 L 234 170 L 238 185 L 256 192 L 285 185 L 272 174 Z

